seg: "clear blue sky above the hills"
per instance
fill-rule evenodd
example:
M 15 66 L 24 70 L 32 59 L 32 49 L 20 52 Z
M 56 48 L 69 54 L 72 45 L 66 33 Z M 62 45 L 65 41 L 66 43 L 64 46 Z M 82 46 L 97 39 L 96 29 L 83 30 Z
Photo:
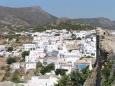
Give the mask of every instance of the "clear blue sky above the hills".
M 93 18 L 115 20 L 115 0 L 0 0 L 1 6 L 40 6 L 57 17 Z

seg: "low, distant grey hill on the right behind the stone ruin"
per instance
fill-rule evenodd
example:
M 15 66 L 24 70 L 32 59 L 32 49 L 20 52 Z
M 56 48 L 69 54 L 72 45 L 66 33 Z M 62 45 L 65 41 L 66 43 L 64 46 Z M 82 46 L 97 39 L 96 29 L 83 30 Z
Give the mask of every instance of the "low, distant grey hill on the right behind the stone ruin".
M 115 21 L 112 21 L 108 18 L 99 17 L 99 18 L 80 18 L 80 19 L 72 19 L 73 23 L 85 23 L 85 24 L 91 24 L 97 27 L 103 27 L 103 28 L 115 28 Z

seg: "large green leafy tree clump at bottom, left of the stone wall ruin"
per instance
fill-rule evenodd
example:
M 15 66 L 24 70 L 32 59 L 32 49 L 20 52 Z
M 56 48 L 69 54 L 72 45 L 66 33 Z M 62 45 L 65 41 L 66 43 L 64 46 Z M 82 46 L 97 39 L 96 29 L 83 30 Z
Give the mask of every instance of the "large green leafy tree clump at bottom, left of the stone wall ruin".
M 89 75 L 88 68 L 82 71 L 74 70 L 69 75 L 63 75 L 55 86 L 83 86 Z

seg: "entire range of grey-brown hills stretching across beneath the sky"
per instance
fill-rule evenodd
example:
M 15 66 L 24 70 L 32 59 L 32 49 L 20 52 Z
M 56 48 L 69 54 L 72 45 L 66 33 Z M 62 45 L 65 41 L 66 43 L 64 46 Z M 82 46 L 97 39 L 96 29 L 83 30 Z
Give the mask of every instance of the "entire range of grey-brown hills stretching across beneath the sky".
M 22 8 L 0 6 L 0 31 L 22 31 L 23 29 L 26 30 L 26 27 L 66 21 L 69 23 L 90 24 L 92 26 L 115 29 L 115 21 L 108 18 L 58 18 L 44 11 L 39 6 Z

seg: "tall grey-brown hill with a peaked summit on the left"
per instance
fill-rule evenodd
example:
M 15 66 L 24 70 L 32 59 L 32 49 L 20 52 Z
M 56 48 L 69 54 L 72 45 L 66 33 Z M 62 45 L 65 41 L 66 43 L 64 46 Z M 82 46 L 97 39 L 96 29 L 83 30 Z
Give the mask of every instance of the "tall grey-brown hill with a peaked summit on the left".
M 56 17 L 45 12 L 39 6 L 25 8 L 11 8 L 0 6 L 1 30 L 17 27 L 50 24 Z

